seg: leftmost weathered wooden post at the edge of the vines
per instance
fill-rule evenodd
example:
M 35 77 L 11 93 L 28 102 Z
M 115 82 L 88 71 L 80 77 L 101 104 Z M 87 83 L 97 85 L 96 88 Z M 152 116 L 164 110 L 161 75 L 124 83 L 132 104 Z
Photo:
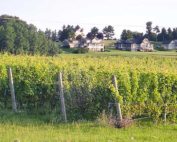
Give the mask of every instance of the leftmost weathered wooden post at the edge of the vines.
M 15 89 L 14 89 L 14 82 L 13 82 L 13 76 L 12 76 L 12 69 L 8 68 L 8 78 L 9 78 L 9 87 L 11 92 L 11 100 L 12 100 L 12 110 L 14 112 L 17 112 L 17 104 L 15 99 Z

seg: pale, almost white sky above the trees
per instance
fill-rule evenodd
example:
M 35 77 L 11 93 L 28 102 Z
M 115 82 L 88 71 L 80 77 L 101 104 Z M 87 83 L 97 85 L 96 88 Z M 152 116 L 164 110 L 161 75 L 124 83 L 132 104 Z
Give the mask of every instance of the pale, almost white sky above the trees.
M 87 33 L 112 25 L 119 38 L 123 29 L 145 32 L 147 21 L 177 27 L 176 6 L 177 0 L 0 0 L 0 15 L 17 16 L 41 30 L 78 24 Z

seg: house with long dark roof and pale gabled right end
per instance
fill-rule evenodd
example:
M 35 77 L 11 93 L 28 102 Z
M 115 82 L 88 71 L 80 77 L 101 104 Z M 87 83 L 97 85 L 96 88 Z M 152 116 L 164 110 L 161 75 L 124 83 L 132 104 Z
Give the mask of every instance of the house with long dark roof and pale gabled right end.
M 128 39 L 128 40 L 119 40 L 115 44 L 115 48 L 118 50 L 127 50 L 127 51 L 153 51 L 153 44 L 147 39 Z

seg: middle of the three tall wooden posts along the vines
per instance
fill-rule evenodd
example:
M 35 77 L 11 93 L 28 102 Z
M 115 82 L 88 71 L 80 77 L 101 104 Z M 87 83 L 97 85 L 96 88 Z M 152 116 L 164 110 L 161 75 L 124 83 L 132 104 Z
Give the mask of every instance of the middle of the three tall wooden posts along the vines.
M 64 88 L 63 88 L 63 80 L 62 80 L 62 73 L 61 72 L 58 74 L 58 95 L 60 96 L 62 118 L 63 118 L 64 122 L 67 122 L 65 98 L 64 98 Z

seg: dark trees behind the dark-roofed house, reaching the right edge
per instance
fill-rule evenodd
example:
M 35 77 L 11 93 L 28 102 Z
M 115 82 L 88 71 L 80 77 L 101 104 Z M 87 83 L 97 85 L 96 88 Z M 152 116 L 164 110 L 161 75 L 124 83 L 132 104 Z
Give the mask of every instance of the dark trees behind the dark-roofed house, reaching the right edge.
M 134 39 L 139 41 L 143 38 L 148 38 L 150 41 L 155 42 L 170 42 L 177 39 L 177 28 L 162 28 L 160 30 L 159 26 L 152 26 L 152 22 L 146 23 L 146 33 L 133 32 L 131 30 L 123 30 L 120 39 Z

